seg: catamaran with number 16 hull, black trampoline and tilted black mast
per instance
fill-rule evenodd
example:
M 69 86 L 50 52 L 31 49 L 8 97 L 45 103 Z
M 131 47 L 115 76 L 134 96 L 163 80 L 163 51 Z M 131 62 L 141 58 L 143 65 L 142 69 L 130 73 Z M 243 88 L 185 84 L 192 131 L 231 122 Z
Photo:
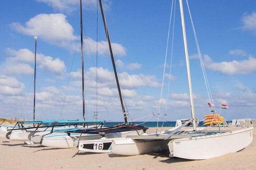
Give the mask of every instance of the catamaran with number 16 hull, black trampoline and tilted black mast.
M 108 27 L 107 27 L 106 18 L 104 15 L 104 10 L 103 10 L 101 0 L 99 0 L 99 4 L 100 4 L 100 10 L 101 10 L 102 19 L 104 22 L 105 31 L 106 31 L 106 37 L 107 37 L 108 46 L 110 50 L 110 57 L 111 57 L 112 65 L 114 68 L 114 74 L 116 78 L 116 84 L 118 88 L 118 94 L 119 94 L 119 98 L 122 106 L 125 123 L 122 125 L 116 125 L 116 126 L 102 128 L 102 129 L 85 129 L 85 130 L 78 129 L 76 131 L 72 131 L 72 133 L 90 134 L 87 136 L 80 137 L 78 142 L 79 150 L 83 150 L 87 152 L 104 153 L 104 152 L 111 151 L 112 139 L 125 137 L 126 135 L 142 135 L 146 132 L 148 128 L 141 125 L 133 125 L 128 122 L 127 112 L 124 107 L 123 96 L 121 93 L 120 83 L 118 80 L 116 64 L 114 60 L 114 55 L 113 55 L 110 37 L 108 33 Z M 91 136 L 92 134 L 94 134 L 94 136 Z

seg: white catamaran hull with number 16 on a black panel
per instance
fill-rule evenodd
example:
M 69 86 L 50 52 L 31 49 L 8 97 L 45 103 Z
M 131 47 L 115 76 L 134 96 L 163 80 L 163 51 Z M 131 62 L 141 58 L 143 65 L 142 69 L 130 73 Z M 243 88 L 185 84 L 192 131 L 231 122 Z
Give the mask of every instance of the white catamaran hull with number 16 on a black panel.
M 109 133 L 105 137 L 97 137 L 92 139 L 93 136 L 81 137 L 78 143 L 78 150 L 95 153 L 109 153 L 112 150 L 112 140 L 124 139 L 127 135 L 141 135 L 143 130 L 137 131 L 124 131 L 118 133 Z

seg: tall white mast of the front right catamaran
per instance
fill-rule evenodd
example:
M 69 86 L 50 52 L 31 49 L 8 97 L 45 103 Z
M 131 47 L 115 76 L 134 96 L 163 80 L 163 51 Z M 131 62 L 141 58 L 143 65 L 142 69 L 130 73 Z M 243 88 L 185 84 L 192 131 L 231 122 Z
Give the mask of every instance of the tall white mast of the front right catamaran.
M 185 48 L 185 55 L 186 55 L 186 65 L 187 65 L 187 72 L 188 72 L 188 88 L 189 88 L 189 96 L 190 96 L 190 109 L 191 109 L 191 115 L 192 115 L 193 129 L 195 131 L 196 130 L 196 118 L 195 118 L 194 100 L 193 100 L 193 93 L 192 93 L 192 83 L 191 83 L 191 76 L 190 76 L 190 66 L 189 66 L 189 59 L 188 59 L 188 46 L 187 46 L 187 38 L 186 38 L 186 29 L 185 29 L 185 21 L 184 21 L 182 0 L 180 0 L 180 15 L 181 15 L 183 40 L 184 40 L 184 48 Z

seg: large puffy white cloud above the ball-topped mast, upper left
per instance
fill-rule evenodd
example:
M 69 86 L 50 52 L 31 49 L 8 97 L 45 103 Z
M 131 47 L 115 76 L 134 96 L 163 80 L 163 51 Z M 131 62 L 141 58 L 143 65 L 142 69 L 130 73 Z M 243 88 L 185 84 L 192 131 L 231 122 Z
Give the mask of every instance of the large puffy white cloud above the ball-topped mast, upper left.
M 64 14 L 38 14 L 27 21 L 25 26 L 20 23 L 12 23 L 10 26 L 17 32 L 37 36 L 38 40 L 60 47 L 70 47 L 71 41 L 76 40 L 74 29 Z

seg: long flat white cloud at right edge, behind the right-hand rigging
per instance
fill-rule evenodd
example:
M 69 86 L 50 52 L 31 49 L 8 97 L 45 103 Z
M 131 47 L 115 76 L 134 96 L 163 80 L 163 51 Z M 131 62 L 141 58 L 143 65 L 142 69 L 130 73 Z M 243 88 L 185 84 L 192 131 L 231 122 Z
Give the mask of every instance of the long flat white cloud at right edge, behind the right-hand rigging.
M 242 61 L 214 63 L 208 55 L 204 55 L 204 65 L 210 70 L 224 74 L 249 74 L 256 71 L 256 59 L 253 57 L 248 57 L 248 59 Z

